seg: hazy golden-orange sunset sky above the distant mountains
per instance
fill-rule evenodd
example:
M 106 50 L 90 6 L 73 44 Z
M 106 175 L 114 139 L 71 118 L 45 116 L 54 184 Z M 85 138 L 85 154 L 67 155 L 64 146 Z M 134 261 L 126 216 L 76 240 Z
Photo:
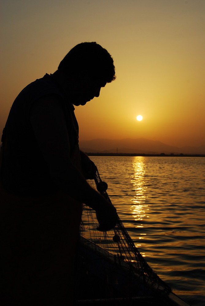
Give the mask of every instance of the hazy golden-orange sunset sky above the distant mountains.
M 1 12 L 1 132 L 21 89 L 96 41 L 117 78 L 76 107 L 80 139 L 205 144 L 205 0 L 1 0 Z

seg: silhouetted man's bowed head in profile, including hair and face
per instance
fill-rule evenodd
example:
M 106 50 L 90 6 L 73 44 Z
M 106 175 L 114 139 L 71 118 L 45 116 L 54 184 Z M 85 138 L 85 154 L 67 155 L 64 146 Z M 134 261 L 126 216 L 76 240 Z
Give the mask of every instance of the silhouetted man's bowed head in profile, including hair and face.
M 60 62 L 58 70 L 73 81 L 73 104 L 85 105 L 101 87 L 116 79 L 113 59 L 99 44 L 79 43 Z

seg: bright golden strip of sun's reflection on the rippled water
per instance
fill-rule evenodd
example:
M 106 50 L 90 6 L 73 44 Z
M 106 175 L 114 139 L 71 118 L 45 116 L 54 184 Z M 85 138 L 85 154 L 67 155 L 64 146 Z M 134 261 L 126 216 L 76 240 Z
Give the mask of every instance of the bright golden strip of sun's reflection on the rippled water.
M 135 221 L 143 221 L 144 218 L 149 218 L 147 215 L 149 208 L 148 205 L 145 205 L 146 199 L 146 189 L 147 187 L 144 184 L 144 176 L 146 173 L 145 170 L 145 163 L 143 157 L 135 158 L 134 162 L 132 163 L 134 174 L 131 177 L 131 183 L 133 185 L 133 191 L 135 191 L 135 196 L 131 198 L 133 205 L 131 206 L 131 214 L 135 218 Z M 136 228 L 143 228 L 143 224 L 139 224 L 135 226 Z M 146 235 L 145 233 L 140 233 L 138 239 L 144 239 L 142 236 Z M 141 246 L 141 244 L 136 244 L 136 247 Z M 141 253 L 142 256 L 145 257 L 145 253 Z

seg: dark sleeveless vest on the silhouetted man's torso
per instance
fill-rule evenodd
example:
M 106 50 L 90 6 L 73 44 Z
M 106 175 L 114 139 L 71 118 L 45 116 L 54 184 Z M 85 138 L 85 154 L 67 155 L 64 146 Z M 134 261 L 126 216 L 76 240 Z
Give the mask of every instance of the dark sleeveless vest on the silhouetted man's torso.
M 63 88 L 48 74 L 26 86 L 13 102 L 2 136 L 1 180 L 4 188 L 12 194 L 44 196 L 56 191 L 29 121 L 32 104 L 50 94 L 58 96 L 63 108 L 71 155 L 78 146 L 74 106 L 68 101 Z

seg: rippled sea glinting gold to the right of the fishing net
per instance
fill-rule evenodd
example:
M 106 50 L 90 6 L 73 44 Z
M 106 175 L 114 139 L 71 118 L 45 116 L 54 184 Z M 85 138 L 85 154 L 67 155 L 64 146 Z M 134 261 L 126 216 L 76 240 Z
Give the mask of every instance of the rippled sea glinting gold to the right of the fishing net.
M 205 305 L 205 158 L 90 157 L 150 267 L 193 306 Z

